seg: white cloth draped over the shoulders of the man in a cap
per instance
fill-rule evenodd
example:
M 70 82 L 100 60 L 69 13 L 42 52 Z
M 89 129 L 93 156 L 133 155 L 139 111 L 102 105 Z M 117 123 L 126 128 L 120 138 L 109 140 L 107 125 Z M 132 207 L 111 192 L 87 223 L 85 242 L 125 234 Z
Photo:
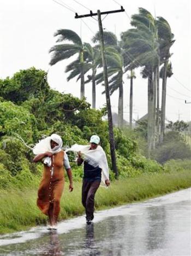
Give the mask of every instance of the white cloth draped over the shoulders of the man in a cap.
M 67 151 L 80 151 L 84 156 L 85 161 L 91 164 L 91 166 L 99 166 L 102 169 L 102 185 L 106 186 L 105 180 L 109 179 L 109 167 L 105 152 L 103 148 L 99 145 L 96 149 L 93 150 L 89 150 L 89 147 L 89 145 L 84 146 L 74 144 L 73 146 L 70 147 L 70 149 L 67 149 Z

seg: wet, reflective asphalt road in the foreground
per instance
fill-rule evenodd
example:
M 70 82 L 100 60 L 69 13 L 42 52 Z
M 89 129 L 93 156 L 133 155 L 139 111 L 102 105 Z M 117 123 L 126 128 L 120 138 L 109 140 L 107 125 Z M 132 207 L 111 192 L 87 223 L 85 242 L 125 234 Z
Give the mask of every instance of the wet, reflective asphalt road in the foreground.
M 0 236 L 0 255 L 191 255 L 191 189 Z

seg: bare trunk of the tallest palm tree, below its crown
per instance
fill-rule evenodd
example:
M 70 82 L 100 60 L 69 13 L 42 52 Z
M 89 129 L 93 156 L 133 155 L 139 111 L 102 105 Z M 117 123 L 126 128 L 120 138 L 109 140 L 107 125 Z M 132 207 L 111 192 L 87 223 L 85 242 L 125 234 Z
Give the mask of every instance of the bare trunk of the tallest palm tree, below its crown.
M 147 143 L 148 157 L 151 156 L 153 140 L 153 72 L 148 76 L 148 124 L 147 124 Z

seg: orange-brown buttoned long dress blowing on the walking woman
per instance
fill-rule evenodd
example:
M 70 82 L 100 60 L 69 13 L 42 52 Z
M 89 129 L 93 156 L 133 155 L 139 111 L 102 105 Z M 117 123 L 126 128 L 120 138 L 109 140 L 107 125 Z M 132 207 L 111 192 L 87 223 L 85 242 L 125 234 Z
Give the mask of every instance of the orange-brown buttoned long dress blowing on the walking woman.
M 51 171 L 53 168 L 53 172 Z M 60 211 L 60 200 L 64 189 L 64 151 L 52 156 L 52 166 L 44 165 L 43 179 L 40 182 L 37 198 L 37 206 L 49 215 L 53 211 L 55 219 Z

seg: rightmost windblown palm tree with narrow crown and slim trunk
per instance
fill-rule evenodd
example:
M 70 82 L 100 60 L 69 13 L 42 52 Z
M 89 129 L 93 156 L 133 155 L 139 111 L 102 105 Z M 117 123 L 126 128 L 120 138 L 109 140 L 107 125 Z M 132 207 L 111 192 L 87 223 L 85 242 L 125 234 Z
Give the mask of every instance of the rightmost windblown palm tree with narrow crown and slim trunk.
M 160 43 L 160 61 L 163 66 L 163 84 L 162 84 L 162 106 L 161 106 L 161 122 L 160 122 L 160 143 L 163 141 L 165 129 L 165 112 L 166 112 L 166 72 L 168 70 L 168 62 L 171 56 L 170 47 L 174 44 L 174 34 L 171 32 L 170 25 L 163 17 L 157 17 L 158 35 Z

